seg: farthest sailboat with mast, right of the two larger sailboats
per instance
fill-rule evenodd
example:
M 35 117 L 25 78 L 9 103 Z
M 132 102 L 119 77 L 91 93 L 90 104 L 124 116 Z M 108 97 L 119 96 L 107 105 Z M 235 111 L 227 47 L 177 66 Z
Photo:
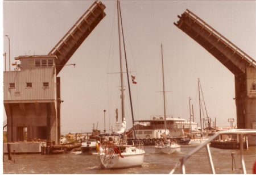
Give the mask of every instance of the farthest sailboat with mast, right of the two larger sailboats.
M 208 133 L 203 132 L 203 128 L 202 128 L 202 122 L 201 122 L 201 98 L 200 98 L 200 80 L 198 78 L 198 90 L 199 90 L 199 109 L 200 109 L 200 127 L 201 127 L 201 131 L 200 132 L 192 132 L 191 130 L 191 145 L 200 145 L 201 143 L 204 143 L 205 141 L 207 141 L 208 138 Z M 201 90 L 202 94 L 203 91 Z M 208 116 L 207 116 L 208 117 Z

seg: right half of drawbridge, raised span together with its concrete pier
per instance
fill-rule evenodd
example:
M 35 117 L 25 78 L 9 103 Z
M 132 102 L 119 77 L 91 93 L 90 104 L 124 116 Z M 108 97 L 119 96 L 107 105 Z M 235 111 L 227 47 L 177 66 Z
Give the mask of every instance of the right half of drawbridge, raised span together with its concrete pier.
M 179 20 L 174 25 L 234 74 L 238 128 L 254 128 L 256 61 L 188 9 L 177 17 Z

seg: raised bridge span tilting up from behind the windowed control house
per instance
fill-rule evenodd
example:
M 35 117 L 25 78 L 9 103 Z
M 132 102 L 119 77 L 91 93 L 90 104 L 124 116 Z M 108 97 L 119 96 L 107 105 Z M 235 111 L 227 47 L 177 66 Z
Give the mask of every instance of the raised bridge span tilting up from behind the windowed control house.
M 48 55 L 56 55 L 56 74 L 60 72 L 73 53 L 80 47 L 82 42 L 90 35 L 93 29 L 106 16 L 103 5 L 100 1 L 96 1 L 89 9 L 77 20 L 74 26 L 66 35 L 53 47 Z

